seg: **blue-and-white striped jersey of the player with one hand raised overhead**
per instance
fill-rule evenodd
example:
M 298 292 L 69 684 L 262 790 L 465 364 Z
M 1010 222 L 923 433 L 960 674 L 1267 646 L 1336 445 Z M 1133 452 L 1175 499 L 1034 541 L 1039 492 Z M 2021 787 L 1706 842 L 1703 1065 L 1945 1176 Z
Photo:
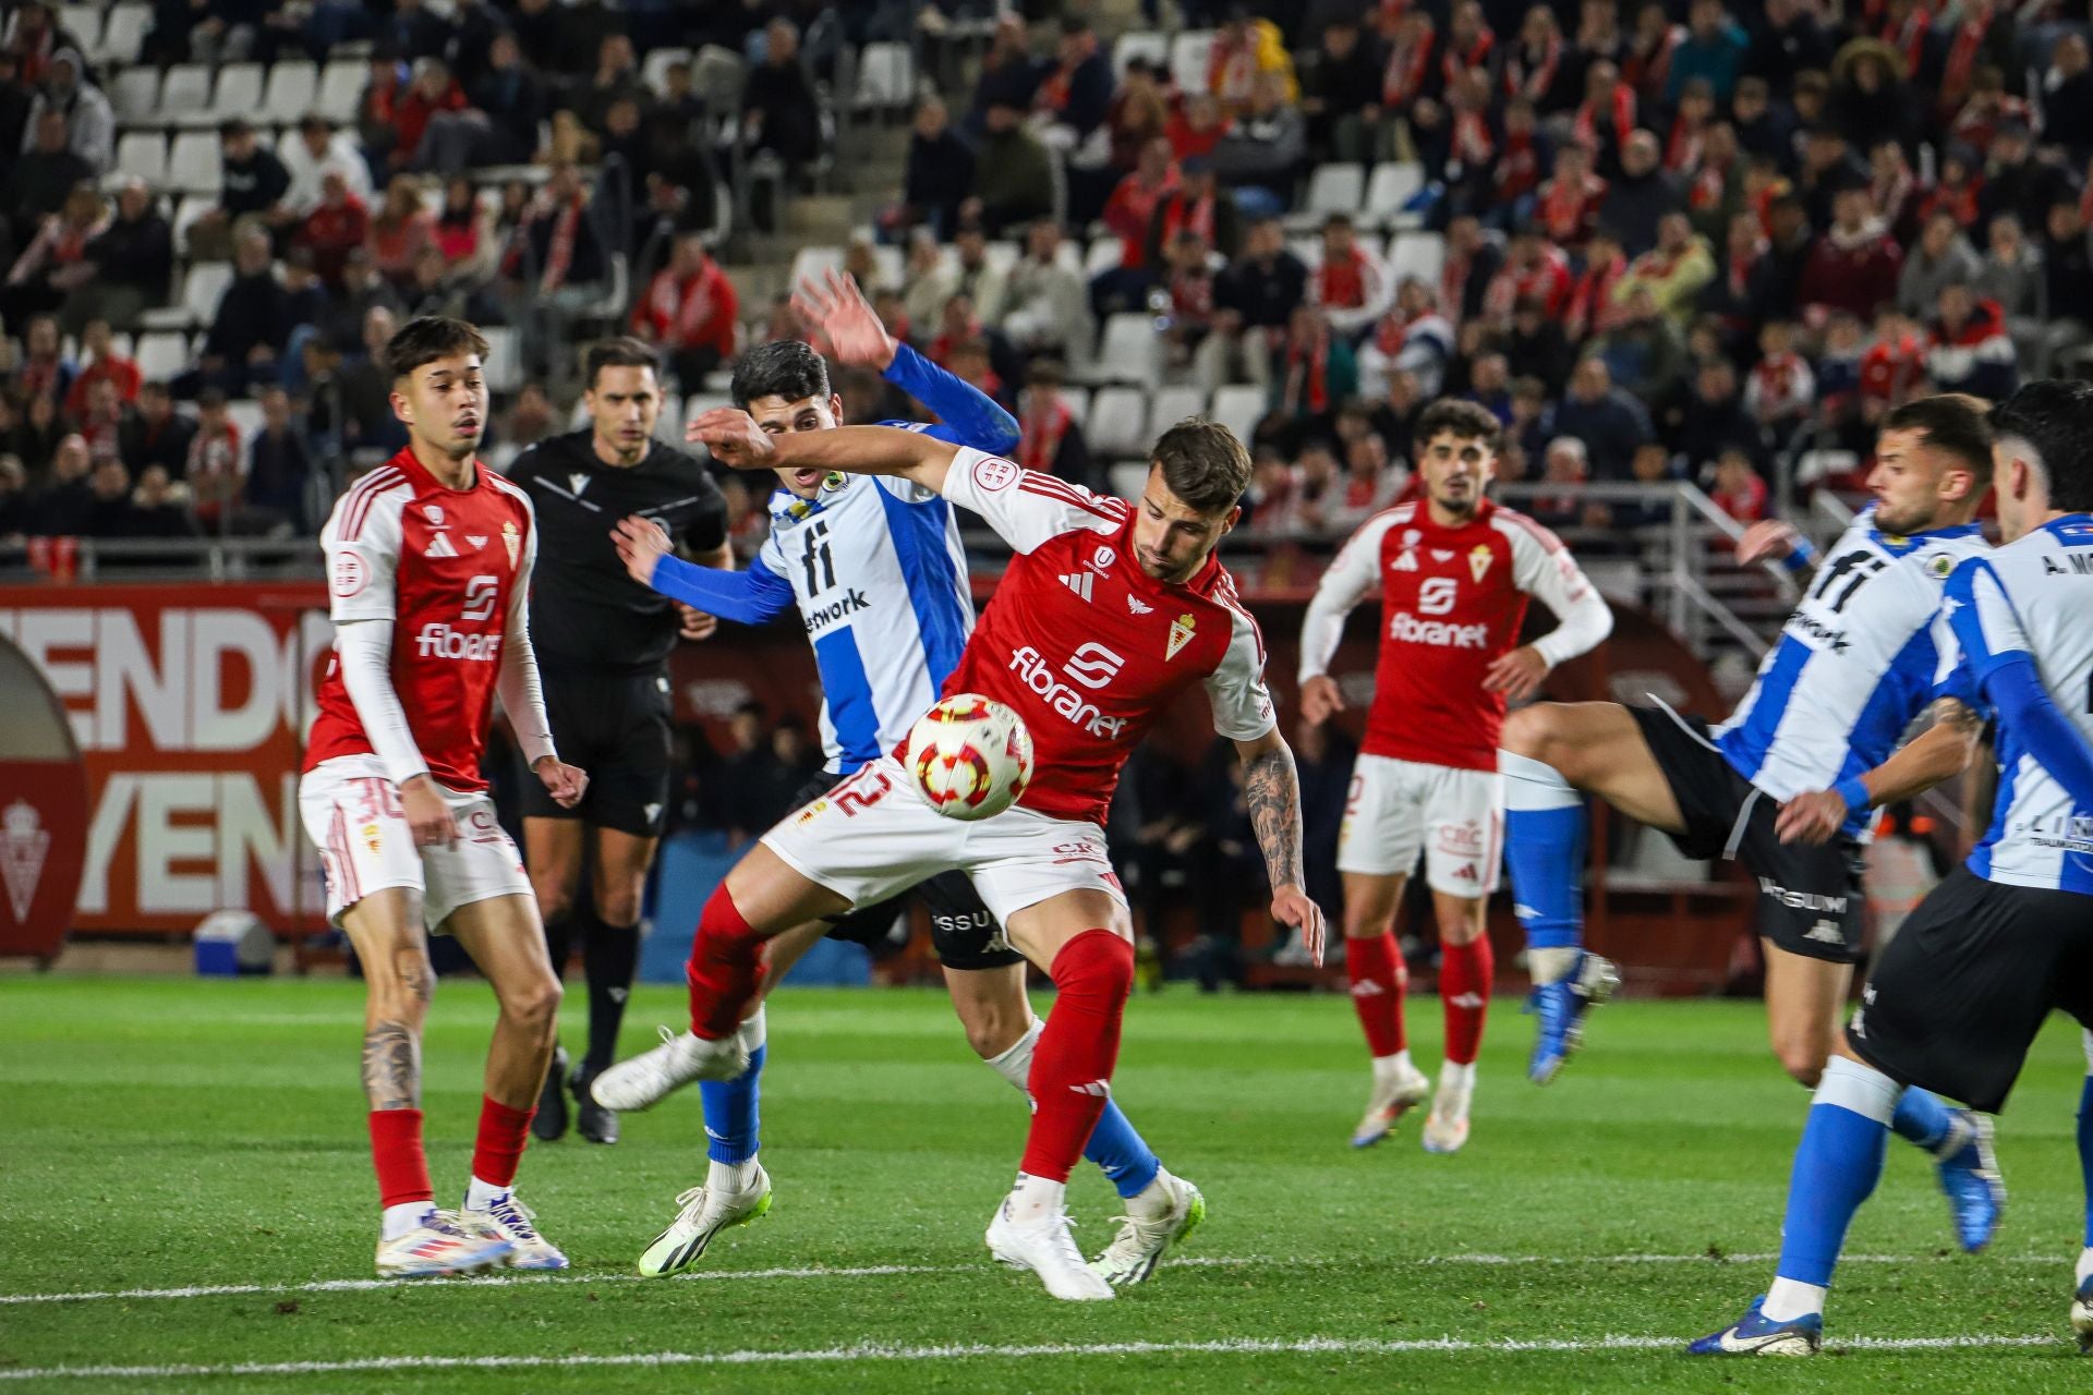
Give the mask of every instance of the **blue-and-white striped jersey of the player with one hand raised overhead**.
M 875 422 L 1005 454 L 1017 420 L 990 397 L 902 345 L 887 381 L 944 425 Z M 973 634 L 973 592 L 952 506 L 892 475 L 831 475 L 820 494 L 770 496 L 770 538 L 747 571 L 674 556 L 653 588 L 745 625 L 797 607 L 820 669 L 820 747 L 831 774 L 892 751 L 959 663 Z

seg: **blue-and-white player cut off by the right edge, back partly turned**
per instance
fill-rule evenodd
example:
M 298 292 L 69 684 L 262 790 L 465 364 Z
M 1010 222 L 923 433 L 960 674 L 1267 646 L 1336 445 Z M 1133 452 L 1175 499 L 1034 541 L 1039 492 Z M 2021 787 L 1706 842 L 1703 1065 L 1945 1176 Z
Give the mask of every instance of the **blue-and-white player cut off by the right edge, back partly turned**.
M 1997 1113 L 2043 1019 L 2093 1027 L 2093 387 L 2030 383 L 1995 414 L 2005 546 L 1946 581 L 1942 665 L 1997 713 L 1999 797 L 1970 860 L 1882 952 L 1810 1104 L 1773 1288 L 1689 1347 L 1808 1355 L 1884 1140 L 1921 1085 Z M 2087 1035 L 2093 1069 L 2093 1033 Z M 2093 1347 L 2093 1075 L 2078 1104 L 2085 1247 L 2070 1322 Z

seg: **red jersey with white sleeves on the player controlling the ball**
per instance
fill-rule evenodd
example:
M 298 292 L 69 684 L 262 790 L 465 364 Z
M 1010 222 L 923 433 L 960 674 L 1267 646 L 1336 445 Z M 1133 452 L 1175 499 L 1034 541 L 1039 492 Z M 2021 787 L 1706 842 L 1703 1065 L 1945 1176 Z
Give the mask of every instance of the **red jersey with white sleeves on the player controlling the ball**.
M 1017 803 L 1103 824 L 1126 757 L 1195 682 L 1222 736 L 1273 730 L 1264 638 L 1218 556 L 1183 586 L 1157 581 L 1134 561 L 1132 504 L 977 450 L 952 458 L 944 496 L 1015 550 L 944 694 L 1023 717 L 1034 776 Z

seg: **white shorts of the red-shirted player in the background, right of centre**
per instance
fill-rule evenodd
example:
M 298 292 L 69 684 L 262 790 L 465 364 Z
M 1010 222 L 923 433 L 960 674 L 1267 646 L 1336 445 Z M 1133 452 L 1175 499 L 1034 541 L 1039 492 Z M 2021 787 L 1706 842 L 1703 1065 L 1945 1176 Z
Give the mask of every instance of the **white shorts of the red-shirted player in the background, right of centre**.
M 1337 870 L 1409 876 L 1425 855 L 1425 883 L 1446 895 L 1496 891 L 1505 860 L 1505 778 L 1360 755 L 1337 832 Z

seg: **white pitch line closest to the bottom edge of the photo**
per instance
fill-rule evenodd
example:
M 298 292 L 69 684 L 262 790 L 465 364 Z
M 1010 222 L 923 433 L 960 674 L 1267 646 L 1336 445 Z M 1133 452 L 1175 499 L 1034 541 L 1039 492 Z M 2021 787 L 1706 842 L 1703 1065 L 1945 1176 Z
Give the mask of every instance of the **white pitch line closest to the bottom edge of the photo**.
M 2060 1347 L 2060 1336 L 1852 1336 L 1833 1341 L 1848 1351 L 1944 1351 L 1980 1347 Z M 245 1362 L 239 1366 L 40 1366 L 0 1370 L 0 1380 L 165 1380 L 174 1376 L 329 1376 L 345 1372 L 391 1370 L 578 1370 L 597 1366 L 783 1366 L 812 1362 L 969 1362 L 1021 1359 L 1042 1355 L 1406 1355 L 1432 1351 L 1490 1353 L 1589 1353 L 1589 1351 L 1679 1351 L 1679 1336 L 1597 1336 L 1593 1341 L 1465 1341 L 1459 1336 L 1427 1336 L 1415 1341 L 1377 1341 L 1344 1336 L 1304 1336 L 1296 1341 L 1229 1339 L 1206 1343 L 1040 1343 L 998 1347 L 969 1343 L 952 1347 L 896 1347 L 858 1343 L 852 1347 L 816 1347 L 808 1351 L 622 1351 L 611 1355 L 381 1355 L 352 1362 Z

